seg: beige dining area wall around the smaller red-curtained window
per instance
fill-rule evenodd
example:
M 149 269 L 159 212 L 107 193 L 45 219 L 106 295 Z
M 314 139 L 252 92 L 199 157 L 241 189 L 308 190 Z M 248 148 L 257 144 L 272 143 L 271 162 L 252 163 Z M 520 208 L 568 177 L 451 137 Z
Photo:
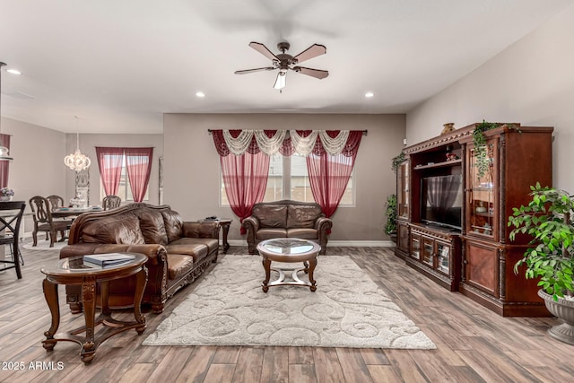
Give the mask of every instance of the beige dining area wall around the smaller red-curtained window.
M 66 136 L 66 154 L 73 153 L 76 148 L 76 135 Z M 101 205 L 100 170 L 96 157 L 96 146 L 112 147 L 153 147 L 152 174 L 148 185 L 150 200 L 145 201 L 152 205 L 159 202 L 159 158 L 163 155 L 163 135 L 80 135 L 80 150 L 91 160 L 90 171 L 90 204 Z M 64 165 L 62 156 L 62 166 Z M 65 168 L 67 170 L 67 168 Z M 74 197 L 75 172 L 66 171 L 66 201 Z M 124 202 L 122 202 L 124 205 Z

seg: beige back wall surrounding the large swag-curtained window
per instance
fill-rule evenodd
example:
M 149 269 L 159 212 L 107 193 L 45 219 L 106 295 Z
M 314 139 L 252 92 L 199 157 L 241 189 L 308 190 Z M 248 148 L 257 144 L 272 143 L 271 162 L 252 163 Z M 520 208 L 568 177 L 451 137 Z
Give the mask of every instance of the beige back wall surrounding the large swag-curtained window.
M 166 114 L 164 116 L 165 203 L 193 220 L 232 217 L 230 239 L 243 239 L 230 207 L 219 206 L 219 156 L 207 129 L 369 130 L 355 163 L 356 205 L 335 212 L 331 240 L 383 240 L 383 215 L 396 192 L 391 159 L 403 147 L 404 115 Z

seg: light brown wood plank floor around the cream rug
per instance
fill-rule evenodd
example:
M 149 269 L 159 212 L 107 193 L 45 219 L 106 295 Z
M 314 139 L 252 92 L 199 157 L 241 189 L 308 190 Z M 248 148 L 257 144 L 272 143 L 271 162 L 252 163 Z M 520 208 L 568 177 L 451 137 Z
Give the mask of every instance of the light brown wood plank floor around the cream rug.
M 194 285 L 168 301 L 161 315 L 147 314 L 143 336 L 129 331 L 100 346 L 91 365 L 80 347 L 60 342 L 47 353 L 50 324 L 42 295 L 42 265 L 57 252 L 22 250 L 23 279 L 0 274 L 0 368 L 22 362 L 24 370 L 0 370 L 3 382 L 570 382 L 574 346 L 545 335 L 554 318 L 501 318 L 457 292 L 448 292 L 396 258 L 392 248 L 328 248 L 348 255 L 422 328 L 437 350 L 311 347 L 143 346 L 145 334 L 170 315 Z M 230 254 L 247 254 L 230 248 Z M 212 266 L 213 267 L 213 266 Z M 319 265 L 320 267 L 320 261 Z M 318 279 L 318 278 L 317 278 Z M 317 281 L 320 289 L 320 280 Z M 81 326 L 60 288 L 63 331 Z M 126 317 L 123 313 L 121 317 Z M 565 363 L 561 363 L 565 361 Z M 59 364 L 58 364 L 59 363 Z M 47 370 L 52 367 L 53 370 Z M 59 369 L 59 370 L 58 370 Z

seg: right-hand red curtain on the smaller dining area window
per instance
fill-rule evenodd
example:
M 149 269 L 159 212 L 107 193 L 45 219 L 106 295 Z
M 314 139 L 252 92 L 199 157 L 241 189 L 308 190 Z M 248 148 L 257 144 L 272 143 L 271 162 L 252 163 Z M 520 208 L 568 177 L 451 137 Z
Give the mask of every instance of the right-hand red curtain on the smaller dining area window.
M 142 202 L 152 173 L 153 148 L 124 148 L 127 177 L 135 202 Z

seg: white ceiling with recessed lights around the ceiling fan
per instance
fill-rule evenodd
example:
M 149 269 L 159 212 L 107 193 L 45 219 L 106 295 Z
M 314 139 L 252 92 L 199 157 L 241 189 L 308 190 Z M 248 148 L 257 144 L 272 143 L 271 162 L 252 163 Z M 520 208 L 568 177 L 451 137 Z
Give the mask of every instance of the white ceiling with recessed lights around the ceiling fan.
M 2 115 L 69 133 L 161 133 L 163 113 L 404 113 L 574 3 L 0 1 L 0 61 L 22 71 L 2 73 Z M 289 72 L 279 93 L 276 72 L 233 74 L 270 65 L 250 41 L 323 44 L 304 66 L 329 76 Z

